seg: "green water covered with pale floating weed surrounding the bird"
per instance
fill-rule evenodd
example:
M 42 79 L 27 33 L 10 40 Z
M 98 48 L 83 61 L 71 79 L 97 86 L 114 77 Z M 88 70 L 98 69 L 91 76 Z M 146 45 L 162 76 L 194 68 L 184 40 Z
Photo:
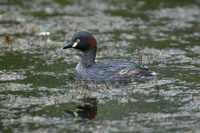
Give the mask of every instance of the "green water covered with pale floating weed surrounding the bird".
M 135 61 L 146 84 L 72 80 L 77 31 L 97 61 Z M 199 132 L 199 0 L 1 0 L 0 132 Z M 158 87 L 157 87 L 157 86 Z

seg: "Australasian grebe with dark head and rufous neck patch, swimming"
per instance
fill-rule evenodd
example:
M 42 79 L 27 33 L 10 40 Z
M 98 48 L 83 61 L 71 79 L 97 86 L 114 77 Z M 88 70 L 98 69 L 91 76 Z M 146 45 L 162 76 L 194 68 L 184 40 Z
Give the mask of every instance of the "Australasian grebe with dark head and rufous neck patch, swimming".
M 63 49 L 75 48 L 83 52 L 76 66 L 75 79 L 93 82 L 145 82 L 155 78 L 154 72 L 133 62 L 95 62 L 97 42 L 89 32 L 73 35 Z

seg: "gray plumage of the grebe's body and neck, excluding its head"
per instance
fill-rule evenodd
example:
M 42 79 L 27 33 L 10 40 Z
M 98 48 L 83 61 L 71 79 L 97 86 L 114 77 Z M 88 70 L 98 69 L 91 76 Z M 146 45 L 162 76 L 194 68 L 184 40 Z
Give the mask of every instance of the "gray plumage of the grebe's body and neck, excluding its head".
M 75 79 L 93 82 L 145 82 L 155 78 L 148 69 L 133 62 L 95 62 L 95 50 L 84 53 L 76 66 Z

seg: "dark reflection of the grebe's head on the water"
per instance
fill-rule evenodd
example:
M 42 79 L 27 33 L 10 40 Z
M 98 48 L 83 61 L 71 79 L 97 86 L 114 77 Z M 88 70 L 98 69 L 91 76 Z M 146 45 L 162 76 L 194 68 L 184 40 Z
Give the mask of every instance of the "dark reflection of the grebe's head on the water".
M 83 103 L 78 105 L 75 109 L 65 110 L 68 116 L 80 117 L 83 119 L 94 119 L 97 114 L 97 99 L 84 98 Z

